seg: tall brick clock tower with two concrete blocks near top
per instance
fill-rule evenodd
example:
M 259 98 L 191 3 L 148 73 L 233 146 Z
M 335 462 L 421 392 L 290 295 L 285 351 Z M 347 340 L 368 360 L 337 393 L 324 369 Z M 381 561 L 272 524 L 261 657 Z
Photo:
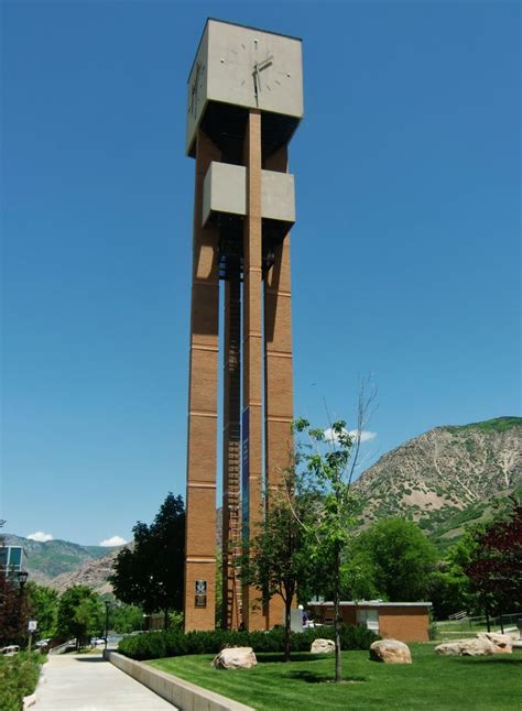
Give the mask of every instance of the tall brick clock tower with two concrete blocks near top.
M 241 589 L 233 558 L 289 463 L 292 407 L 287 145 L 303 116 L 301 40 L 209 19 L 187 91 L 196 160 L 188 394 L 185 628 L 282 622 Z M 222 302 L 222 581 L 216 580 L 219 293 Z

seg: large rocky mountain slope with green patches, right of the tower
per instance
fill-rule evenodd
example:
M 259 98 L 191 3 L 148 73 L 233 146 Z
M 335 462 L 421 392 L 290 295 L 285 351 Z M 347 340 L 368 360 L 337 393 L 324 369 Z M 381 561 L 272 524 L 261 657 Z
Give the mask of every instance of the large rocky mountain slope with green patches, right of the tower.
M 355 484 L 367 525 L 401 516 L 446 540 L 521 486 L 521 417 L 435 427 L 381 457 Z

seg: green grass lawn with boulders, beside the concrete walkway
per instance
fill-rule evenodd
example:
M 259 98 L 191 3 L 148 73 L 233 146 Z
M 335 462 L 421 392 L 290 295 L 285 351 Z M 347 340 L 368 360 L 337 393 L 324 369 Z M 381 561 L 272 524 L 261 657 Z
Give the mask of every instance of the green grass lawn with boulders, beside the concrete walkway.
M 330 709 L 470 709 L 514 711 L 522 691 L 522 653 L 492 657 L 439 657 L 433 645 L 410 645 L 412 665 L 370 661 L 368 652 L 344 652 L 345 683 L 329 682 L 333 656 L 259 654 L 253 669 L 210 666 L 213 655 L 148 661 L 261 711 Z

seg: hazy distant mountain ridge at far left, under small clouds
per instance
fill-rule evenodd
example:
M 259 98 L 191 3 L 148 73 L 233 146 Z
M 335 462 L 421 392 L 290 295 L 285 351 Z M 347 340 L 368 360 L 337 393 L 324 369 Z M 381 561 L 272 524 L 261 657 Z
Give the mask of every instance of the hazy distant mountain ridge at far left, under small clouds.
M 115 550 L 104 546 L 80 546 L 59 539 L 41 543 L 13 534 L 6 534 L 3 538 L 7 545 L 22 546 L 24 568 L 30 573 L 30 579 L 40 584 L 51 584 L 57 576 L 76 570 L 86 562 L 105 558 Z

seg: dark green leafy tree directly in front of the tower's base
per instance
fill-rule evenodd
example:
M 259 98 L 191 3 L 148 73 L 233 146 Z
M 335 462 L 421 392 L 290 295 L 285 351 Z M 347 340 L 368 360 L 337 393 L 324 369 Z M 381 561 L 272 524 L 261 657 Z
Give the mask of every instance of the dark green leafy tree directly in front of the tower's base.
M 264 603 L 274 595 L 284 602 L 285 661 L 290 659 L 292 602 L 311 575 L 304 499 L 295 499 L 291 480 L 287 484 L 284 492 L 271 492 L 261 528 L 251 538 L 240 564 L 242 581 L 259 588 Z M 296 515 L 301 525 L 296 525 Z

